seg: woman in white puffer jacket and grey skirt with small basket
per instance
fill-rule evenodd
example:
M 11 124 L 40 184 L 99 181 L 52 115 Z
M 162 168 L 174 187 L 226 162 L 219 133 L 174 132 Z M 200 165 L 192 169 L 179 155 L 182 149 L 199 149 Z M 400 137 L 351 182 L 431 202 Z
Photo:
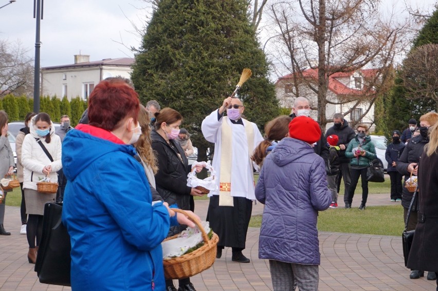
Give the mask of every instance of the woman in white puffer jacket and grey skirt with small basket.
M 23 189 L 26 200 L 27 220 L 26 235 L 29 243 L 27 259 L 29 263 L 36 261 L 36 252 L 40 245 L 44 204 L 54 202 L 56 191 L 51 194 L 38 191 L 38 183 L 44 178 L 50 182 L 58 182 L 61 164 L 61 139 L 54 133 L 54 126 L 47 113 L 35 115 L 29 124 L 30 134 L 23 140 L 21 162 L 23 165 Z

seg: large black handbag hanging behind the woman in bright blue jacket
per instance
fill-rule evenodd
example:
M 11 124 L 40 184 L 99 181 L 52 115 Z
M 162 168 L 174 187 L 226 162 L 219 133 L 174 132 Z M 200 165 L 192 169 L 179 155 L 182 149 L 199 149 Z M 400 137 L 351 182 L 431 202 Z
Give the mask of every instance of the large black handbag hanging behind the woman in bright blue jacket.
M 43 235 L 35 271 L 41 283 L 70 286 L 70 236 L 61 215 L 62 202 L 44 205 Z

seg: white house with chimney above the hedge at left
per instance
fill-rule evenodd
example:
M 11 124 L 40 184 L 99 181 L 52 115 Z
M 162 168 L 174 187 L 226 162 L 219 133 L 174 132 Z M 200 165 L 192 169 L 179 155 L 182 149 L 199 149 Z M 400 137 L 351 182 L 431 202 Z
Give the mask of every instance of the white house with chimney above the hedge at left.
M 89 61 L 89 55 L 75 55 L 75 63 L 41 68 L 41 90 L 44 95 L 80 96 L 87 99 L 94 86 L 107 77 L 122 76 L 131 79 L 131 57 Z

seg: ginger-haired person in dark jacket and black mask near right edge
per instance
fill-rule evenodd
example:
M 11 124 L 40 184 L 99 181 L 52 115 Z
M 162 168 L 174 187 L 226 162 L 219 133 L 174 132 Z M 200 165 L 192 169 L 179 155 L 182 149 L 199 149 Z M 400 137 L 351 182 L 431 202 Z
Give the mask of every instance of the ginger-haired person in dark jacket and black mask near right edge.
M 398 164 L 396 166 L 397 171 L 405 175 L 405 181 L 409 179 L 412 172 L 413 176 L 417 176 L 418 162 L 420 157 L 424 152 L 424 146 L 429 142 L 428 129 L 438 122 L 438 113 L 429 112 L 420 118 L 420 135 L 418 137 L 412 138 L 406 145 L 406 148 L 401 153 L 400 159 L 398 159 Z M 409 192 L 405 187 L 403 188 L 403 195 L 401 197 L 401 205 L 403 206 L 404 221 L 408 215 L 409 204 L 411 203 L 413 193 Z M 411 214 L 409 217 L 409 224 L 407 230 L 415 229 L 418 221 L 418 206 L 417 202 L 412 205 Z M 412 270 L 409 278 L 418 279 L 424 276 L 424 270 Z M 428 280 L 436 280 L 434 272 L 429 272 L 427 275 Z

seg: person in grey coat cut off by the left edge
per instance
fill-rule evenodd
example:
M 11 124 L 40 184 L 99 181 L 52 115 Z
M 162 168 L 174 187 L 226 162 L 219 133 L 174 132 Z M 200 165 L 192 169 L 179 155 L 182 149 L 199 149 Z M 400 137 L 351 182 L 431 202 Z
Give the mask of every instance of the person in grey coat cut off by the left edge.
M 5 175 L 11 175 L 14 172 L 14 154 L 11 149 L 11 145 L 8 140 L 8 114 L 5 111 L 0 110 L 0 178 Z M 6 231 L 3 227 L 3 219 L 5 218 L 5 203 L 6 203 L 6 190 L 1 189 L 0 197 L 0 235 L 10 236 L 11 233 Z

